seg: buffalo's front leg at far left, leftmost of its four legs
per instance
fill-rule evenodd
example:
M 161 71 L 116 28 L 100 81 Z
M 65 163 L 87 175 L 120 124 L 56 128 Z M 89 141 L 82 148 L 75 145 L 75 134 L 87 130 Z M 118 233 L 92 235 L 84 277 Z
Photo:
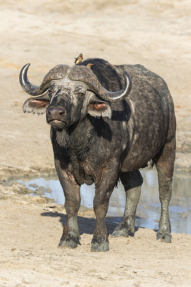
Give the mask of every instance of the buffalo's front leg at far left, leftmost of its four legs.
M 74 249 L 77 247 L 78 239 L 81 239 L 77 221 L 81 201 L 80 186 L 76 183 L 74 177 L 68 177 L 64 169 L 57 170 L 57 173 L 64 191 L 64 207 L 66 209 L 66 223 L 58 248 L 70 247 Z

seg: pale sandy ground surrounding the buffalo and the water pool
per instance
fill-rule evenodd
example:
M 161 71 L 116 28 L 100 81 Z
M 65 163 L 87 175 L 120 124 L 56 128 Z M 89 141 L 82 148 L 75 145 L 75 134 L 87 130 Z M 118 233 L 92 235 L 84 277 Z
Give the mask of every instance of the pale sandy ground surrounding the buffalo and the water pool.
M 91 253 L 94 214 L 81 209 L 81 245 L 60 250 L 64 207 L 30 197 L 19 183 L 6 186 L 10 176 L 55 173 L 45 117 L 22 112 L 20 69 L 31 63 L 29 80 L 40 85 L 52 67 L 72 66 L 79 53 L 139 63 L 165 79 L 177 119 L 175 168 L 191 170 L 190 1 L 0 3 L 0 286 L 190 286 L 190 235 L 172 233 L 172 243 L 163 244 L 155 230 L 137 227 L 134 237 L 109 236 L 107 253 Z M 109 234 L 113 228 L 107 218 Z

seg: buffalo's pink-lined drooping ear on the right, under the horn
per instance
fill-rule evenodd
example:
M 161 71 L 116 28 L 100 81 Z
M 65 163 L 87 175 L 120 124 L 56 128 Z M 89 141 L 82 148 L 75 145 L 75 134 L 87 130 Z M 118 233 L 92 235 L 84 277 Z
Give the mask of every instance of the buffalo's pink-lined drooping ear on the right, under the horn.
M 94 101 L 88 105 L 88 114 L 93 117 L 107 117 L 111 119 L 112 109 L 109 103 L 104 101 Z

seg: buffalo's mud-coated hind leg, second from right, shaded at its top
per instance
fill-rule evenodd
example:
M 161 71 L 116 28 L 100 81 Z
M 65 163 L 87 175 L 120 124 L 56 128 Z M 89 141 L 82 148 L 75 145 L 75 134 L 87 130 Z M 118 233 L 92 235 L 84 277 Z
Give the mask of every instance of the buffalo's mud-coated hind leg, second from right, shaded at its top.
M 123 219 L 111 234 L 117 236 L 129 236 L 129 231 L 135 232 L 135 213 L 141 195 L 141 185 L 143 178 L 139 170 L 123 172 L 119 178 L 125 188 L 126 203 Z

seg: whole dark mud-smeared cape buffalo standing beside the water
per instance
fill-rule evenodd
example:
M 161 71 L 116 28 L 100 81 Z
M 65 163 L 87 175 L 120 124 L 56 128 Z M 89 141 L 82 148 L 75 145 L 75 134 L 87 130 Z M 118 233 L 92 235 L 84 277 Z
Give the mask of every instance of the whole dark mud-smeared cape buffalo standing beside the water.
M 88 63 L 94 64 L 92 70 L 86 67 Z M 35 97 L 25 101 L 23 111 L 46 113 L 55 167 L 65 195 L 66 224 L 58 247 L 76 248 L 80 239 L 77 214 L 83 183 L 95 184 L 96 224 L 91 251 L 109 250 L 105 216 L 119 179 L 126 204 L 123 219 L 112 235 L 134 232 L 143 183 L 139 168 L 149 161 L 158 172 L 161 217 L 157 240 L 171 242 L 168 205 L 176 119 L 164 80 L 141 65 L 114 66 L 103 59 L 87 59 L 73 67 L 57 65 L 40 86 L 34 86 L 27 79 L 29 65 L 21 69 L 20 84 Z

